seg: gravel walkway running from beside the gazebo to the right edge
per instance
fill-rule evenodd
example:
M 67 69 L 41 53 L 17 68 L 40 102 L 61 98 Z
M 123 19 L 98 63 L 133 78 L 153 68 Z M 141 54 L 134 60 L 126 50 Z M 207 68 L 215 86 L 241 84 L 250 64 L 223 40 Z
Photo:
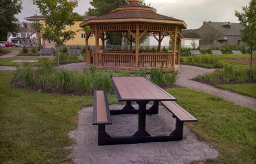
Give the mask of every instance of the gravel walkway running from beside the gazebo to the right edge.
M 212 95 L 217 95 L 228 101 L 232 101 L 235 104 L 256 110 L 256 99 L 253 97 L 240 95 L 238 93 L 234 93 L 224 89 L 218 89 L 216 87 L 213 87 L 212 85 L 207 85 L 204 83 L 199 83 L 197 81 L 191 80 L 194 77 L 197 77 L 198 75 L 210 74 L 214 71 L 214 69 L 203 69 L 200 67 L 181 65 L 181 69 L 179 70 L 180 77 L 179 80 L 177 81 L 177 85 L 189 87 L 191 89 L 203 91 L 205 93 L 210 93 Z

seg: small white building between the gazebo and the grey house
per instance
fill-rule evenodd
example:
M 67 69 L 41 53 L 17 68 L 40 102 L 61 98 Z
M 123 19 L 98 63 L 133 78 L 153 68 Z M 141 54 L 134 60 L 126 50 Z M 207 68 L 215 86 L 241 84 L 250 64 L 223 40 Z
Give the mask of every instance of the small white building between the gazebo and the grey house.
M 198 48 L 201 37 L 198 34 L 183 34 L 181 38 L 182 48 Z

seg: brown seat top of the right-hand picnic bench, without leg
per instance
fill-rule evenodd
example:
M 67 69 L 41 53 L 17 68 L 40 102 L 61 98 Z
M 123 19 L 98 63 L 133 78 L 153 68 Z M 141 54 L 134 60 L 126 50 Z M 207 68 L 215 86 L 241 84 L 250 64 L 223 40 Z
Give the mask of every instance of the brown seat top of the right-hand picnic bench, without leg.
M 181 106 L 179 106 L 174 101 L 161 101 L 161 103 L 168 109 L 172 114 L 177 116 L 179 120 L 182 122 L 193 122 L 197 121 L 189 112 L 184 110 Z

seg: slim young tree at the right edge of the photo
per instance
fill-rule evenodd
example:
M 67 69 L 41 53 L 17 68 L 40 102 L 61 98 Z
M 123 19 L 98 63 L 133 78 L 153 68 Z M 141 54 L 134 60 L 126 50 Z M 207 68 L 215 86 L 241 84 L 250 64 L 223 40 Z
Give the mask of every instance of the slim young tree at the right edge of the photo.
M 235 15 L 245 28 L 241 30 L 243 42 L 246 42 L 251 51 L 250 72 L 252 77 L 253 50 L 256 50 L 256 0 L 251 0 L 249 6 L 242 7 L 241 12 Z

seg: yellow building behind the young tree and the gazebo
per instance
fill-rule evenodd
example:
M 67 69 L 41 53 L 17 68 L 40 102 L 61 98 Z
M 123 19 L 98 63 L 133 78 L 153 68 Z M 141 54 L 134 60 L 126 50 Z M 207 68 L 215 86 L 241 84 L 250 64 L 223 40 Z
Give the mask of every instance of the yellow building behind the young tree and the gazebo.
M 91 19 L 91 16 L 85 17 L 84 21 L 87 19 Z M 41 15 L 34 15 L 31 17 L 25 17 L 29 22 L 39 21 L 42 25 L 44 25 L 45 18 Z M 67 26 L 66 30 L 73 30 L 75 31 L 75 38 L 68 40 L 65 42 L 65 46 L 85 46 L 86 44 L 86 34 L 83 31 L 77 32 L 77 30 L 82 30 L 82 28 L 79 27 L 79 24 L 82 22 L 75 22 L 73 26 Z M 54 48 L 55 43 L 52 40 L 49 40 L 49 38 L 41 38 L 40 34 L 36 33 L 36 44 L 42 45 L 44 48 Z M 95 45 L 95 37 L 92 35 L 89 39 L 89 46 Z M 102 45 L 102 42 L 100 42 L 100 45 Z

